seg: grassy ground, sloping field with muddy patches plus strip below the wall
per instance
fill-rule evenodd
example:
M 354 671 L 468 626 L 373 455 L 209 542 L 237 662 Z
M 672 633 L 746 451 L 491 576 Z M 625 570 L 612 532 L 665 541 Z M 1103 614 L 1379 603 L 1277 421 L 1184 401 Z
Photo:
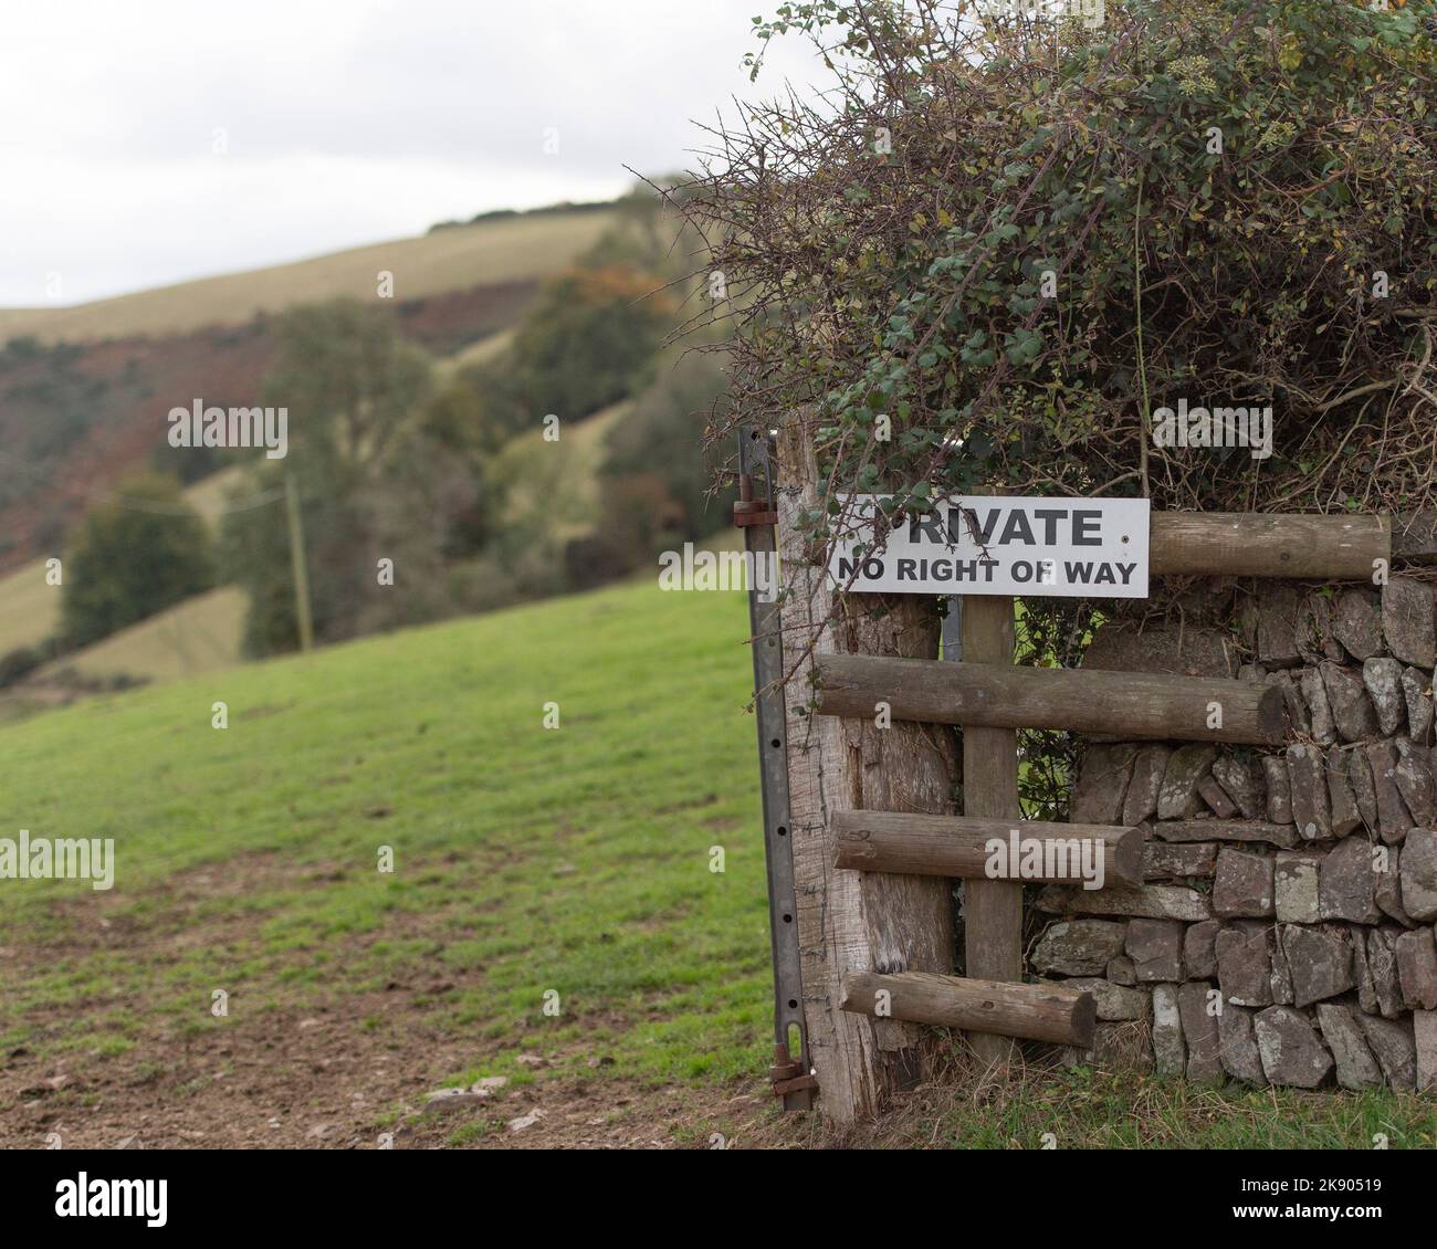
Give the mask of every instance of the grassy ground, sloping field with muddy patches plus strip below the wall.
M 762 1091 L 744 635 L 739 595 L 645 578 L 0 727 L 6 834 L 118 857 L 109 893 L 0 882 L 0 1143 L 823 1140 Z M 427 1108 L 491 1075 L 493 1104 Z M 1081 1069 L 920 1091 L 865 1140 L 1430 1147 L 1433 1125 L 1410 1095 Z

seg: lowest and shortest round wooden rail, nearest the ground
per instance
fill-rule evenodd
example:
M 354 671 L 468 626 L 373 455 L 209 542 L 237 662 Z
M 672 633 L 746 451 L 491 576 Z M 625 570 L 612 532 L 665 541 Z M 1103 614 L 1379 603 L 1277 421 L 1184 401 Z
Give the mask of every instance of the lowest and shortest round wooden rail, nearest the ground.
M 1098 1020 L 1092 993 L 1053 985 L 1000 985 L 933 972 L 845 972 L 842 989 L 838 1005 L 854 1015 L 937 1023 L 1053 1045 L 1092 1045 Z

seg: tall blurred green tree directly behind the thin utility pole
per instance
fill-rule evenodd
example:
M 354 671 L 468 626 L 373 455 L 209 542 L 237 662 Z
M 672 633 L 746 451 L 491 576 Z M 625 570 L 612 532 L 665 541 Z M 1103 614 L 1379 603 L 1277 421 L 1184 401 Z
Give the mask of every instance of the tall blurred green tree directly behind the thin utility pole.
M 387 309 L 358 300 L 297 308 L 276 333 L 264 402 L 289 408 L 289 454 L 266 460 L 237 494 L 277 494 L 293 479 L 315 637 L 338 641 L 443 615 L 441 550 L 477 487 L 466 464 L 420 428 L 433 395 L 428 356 L 399 338 Z M 227 579 L 250 598 L 246 654 L 293 650 L 285 506 L 228 513 L 220 552 Z M 381 584 L 379 559 L 394 561 L 394 585 Z

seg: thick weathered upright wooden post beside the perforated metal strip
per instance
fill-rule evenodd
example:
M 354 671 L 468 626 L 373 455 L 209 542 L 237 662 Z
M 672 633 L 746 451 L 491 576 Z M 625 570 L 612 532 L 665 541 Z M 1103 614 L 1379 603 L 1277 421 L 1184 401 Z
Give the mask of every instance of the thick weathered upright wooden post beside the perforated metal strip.
M 841 1009 L 842 974 L 951 970 L 951 887 L 836 870 L 833 819 L 859 808 L 951 814 L 957 750 L 943 729 L 898 720 L 878 727 L 877 699 L 844 719 L 810 714 L 819 655 L 935 658 L 938 618 L 931 601 L 917 598 L 835 604 L 828 569 L 813 562 L 805 536 L 803 513 L 822 507 L 810 420 L 795 417 L 779 431 L 777 458 L 783 642 L 793 660 L 812 644 L 785 688 L 805 1019 L 819 1104 L 829 1118 L 852 1123 L 921 1075 L 923 1036 L 914 1023 Z M 874 611 L 881 605 L 887 614 Z

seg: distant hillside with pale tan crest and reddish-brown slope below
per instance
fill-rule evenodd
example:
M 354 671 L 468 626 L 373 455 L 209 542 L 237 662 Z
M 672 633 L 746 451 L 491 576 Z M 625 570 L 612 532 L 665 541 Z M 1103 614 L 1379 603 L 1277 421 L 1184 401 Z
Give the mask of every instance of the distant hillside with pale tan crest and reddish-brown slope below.
M 401 332 L 438 356 L 463 352 L 502 341 L 611 218 L 500 217 L 75 309 L 0 312 L 0 572 L 57 553 L 86 507 L 162 446 L 170 408 L 257 402 L 272 313 L 374 299 L 388 269 Z M 184 467 L 213 464 L 197 454 Z

